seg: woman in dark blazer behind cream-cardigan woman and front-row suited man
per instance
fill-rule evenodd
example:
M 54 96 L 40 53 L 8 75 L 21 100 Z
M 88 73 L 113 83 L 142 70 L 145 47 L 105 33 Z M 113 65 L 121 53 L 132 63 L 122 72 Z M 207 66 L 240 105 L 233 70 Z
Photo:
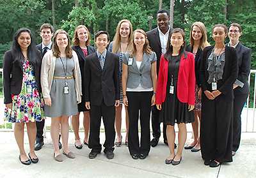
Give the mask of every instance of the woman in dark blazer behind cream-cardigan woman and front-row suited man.
M 89 54 L 95 52 L 95 49 L 90 46 L 90 33 L 86 26 L 80 25 L 76 27 L 74 32 L 73 38 L 74 46 L 72 49 L 76 51 L 78 60 L 79 60 L 79 67 L 81 71 L 81 78 L 82 78 L 82 86 L 84 86 L 84 63 L 85 57 Z M 82 87 L 82 102 L 78 104 L 78 113 L 77 115 L 72 115 L 72 127 L 75 133 L 75 147 L 77 149 L 81 149 L 83 145 L 81 144 L 80 137 L 79 137 L 79 115 L 80 112 L 83 112 L 84 119 L 84 140 L 83 143 L 88 145 L 88 137 L 89 137 L 89 130 L 90 130 L 90 113 L 85 107 L 84 101 L 84 87 Z

